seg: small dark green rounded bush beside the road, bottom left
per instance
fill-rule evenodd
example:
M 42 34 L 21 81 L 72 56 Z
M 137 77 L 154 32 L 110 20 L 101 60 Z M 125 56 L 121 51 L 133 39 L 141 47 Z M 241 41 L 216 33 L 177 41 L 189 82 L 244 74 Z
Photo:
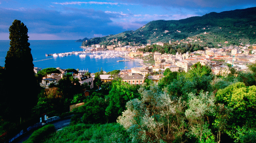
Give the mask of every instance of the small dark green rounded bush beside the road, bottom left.
M 32 135 L 23 143 L 34 143 L 40 142 L 45 139 L 46 136 L 50 135 L 55 131 L 55 127 L 53 124 L 48 124 L 43 126 L 42 128 L 34 131 Z

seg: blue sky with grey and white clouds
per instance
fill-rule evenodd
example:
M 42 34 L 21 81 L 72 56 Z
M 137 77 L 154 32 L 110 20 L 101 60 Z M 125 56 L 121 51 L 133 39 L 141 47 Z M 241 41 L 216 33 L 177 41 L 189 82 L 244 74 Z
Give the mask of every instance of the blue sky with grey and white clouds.
M 27 26 L 29 40 L 78 40 L 251 7 L 255 0 L 0 0 L 0 40 L 9 40 L 15 19 Z

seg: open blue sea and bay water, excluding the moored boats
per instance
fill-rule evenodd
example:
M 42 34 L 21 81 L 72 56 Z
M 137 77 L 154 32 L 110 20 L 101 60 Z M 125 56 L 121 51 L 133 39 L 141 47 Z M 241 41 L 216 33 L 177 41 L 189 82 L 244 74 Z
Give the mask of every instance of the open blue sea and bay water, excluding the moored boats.
M 83 51 L 81 42 L 75 40 L 29 40 L 34 67 L 38 68 L 61 68 L 88 70 L 91 73 L 104 71 L 123 70 L 139 67 L 139 61 L 123 61 L 121 57 L 93 58 L 90 56 L 79 57 L 72 54 L 68 56 L 46 56 L 46 54 L 66 53 Z M 10 47 L 10 40 L 0 40 L 0 66 L 4 67 L 5 57 Z

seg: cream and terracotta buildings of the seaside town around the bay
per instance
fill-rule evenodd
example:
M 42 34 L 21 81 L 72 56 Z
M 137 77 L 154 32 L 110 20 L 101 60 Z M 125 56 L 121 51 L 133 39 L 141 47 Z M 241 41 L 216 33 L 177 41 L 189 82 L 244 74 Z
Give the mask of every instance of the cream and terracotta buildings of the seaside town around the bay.
M 164 43 L 158 42 L 157 45 L 163 46 Z M 129 62 L 130 60 L 140 60 L 141 66 L 137 68 L 127 69 L 124 67 L 118 74 L 122 81 L 129 84 L 143 84 L 145 79 L 151 79 L 155 82 L 158 82 L 161 77 L 163 77 L 163 72 L 165 69 L 169 68 L 170 71 L 189 71 L 191 66 L 197 62 L 200 62 L 202 65 L 210 66 L 213 74 L 227 74 L 229 73 L 228 65 L 237 71 L 246 71 L 247 65 L 255 63 L 256 60 L 256 44 L 254 45 L 245 45 L 245 46 L 228 46 L 221 48 L 205 48 L 203 51 L 195 51 L 192 53 L 176 53 L 176 55 L 161 54 L 159 52 L 154 53 L 143 53 L 138 52 L 141 47 L 116 47 L 112 46 L 101 46 L 101 45 L 92 45 L 91 47 L 81 47 L 84 56 L 89 55 L 92 57 L 99 57 L 97 53 L 101 53 L 102 58 L 109 58 L 110 56 L 120 56 L 127 60 L 122 60 L 119 62 Z M 250 47 L 250 48 L 248 48 Z M 155 64 L 148 64 L 146 61 L 147 56 L 152 56 L 154 58 Z M 102 65 L 104 67 L 104 65 Z M 50 83 L 57 84 L 58 81 L 67 73 L 65 69 L 57 68 L 61 71 L 61 74 L 49 74 L 42 80 L 40 83 L 41 87 L 48 88 Z M 86 69 L 86 67 L 85 67 Z M 42 70 L 41 68 L 34 68 L 35 73 Z M 78 74 L 74 74 L 74 78 L 77 78 L 80 84 L 92 83 L 89 84 L 91 89 L 94 88 L 93 80 L 94 73 L 90 73 L 88 70 L 78 70 Z M 85 75 L 86 72 L 89 72 L 91 76 Z M 100 75 L 102 83 L 111 82 L 113 76 L 106 74 L 104 71 Z

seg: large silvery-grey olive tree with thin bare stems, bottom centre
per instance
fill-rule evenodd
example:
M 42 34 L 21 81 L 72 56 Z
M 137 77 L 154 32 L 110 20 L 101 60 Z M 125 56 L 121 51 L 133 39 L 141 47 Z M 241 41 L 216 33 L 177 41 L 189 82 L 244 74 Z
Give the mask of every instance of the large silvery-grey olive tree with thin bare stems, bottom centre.
M 183 142 L 186 129 L 186 103 L 161 92 L 156 85 L 140 88 L 141 100 L 126 103 L 117 122 L 124 126 L 134 142 Z

